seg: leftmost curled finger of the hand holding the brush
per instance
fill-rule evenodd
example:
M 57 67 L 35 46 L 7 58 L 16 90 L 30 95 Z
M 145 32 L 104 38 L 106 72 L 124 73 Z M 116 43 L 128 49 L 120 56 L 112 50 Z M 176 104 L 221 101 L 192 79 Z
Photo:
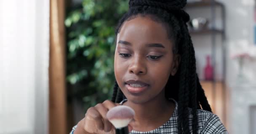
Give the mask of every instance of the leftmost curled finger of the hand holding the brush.
M 88 111 L 86 112 L 86 118 L 85 118 L 85 126 L 86 124 L 93 124 L 95 123 L 97 129 L 99 130 L 103 130 L 103 122 L 102 122 L 102 116 L 99 113 L 99 111 L 97 111 L 97 109 L 95 107 L 91 107 L 88 109 Z M 87 128 L 90 129 L 90 128 Z

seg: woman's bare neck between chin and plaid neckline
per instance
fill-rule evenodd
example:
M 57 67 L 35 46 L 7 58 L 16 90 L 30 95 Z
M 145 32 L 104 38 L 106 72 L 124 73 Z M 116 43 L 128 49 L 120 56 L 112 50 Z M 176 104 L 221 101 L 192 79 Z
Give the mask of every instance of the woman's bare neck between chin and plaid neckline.
M 140 104 L 129 100 L 123 104 L 133 108 L 136 113 L 132 125 L 134 130 L 153 130 L 169 120 L 175 109 L 175 104 L 166 100 L 164 93 L 157 96 Z M 145 124 L 145 122 L 148 122 L 148 124 Z

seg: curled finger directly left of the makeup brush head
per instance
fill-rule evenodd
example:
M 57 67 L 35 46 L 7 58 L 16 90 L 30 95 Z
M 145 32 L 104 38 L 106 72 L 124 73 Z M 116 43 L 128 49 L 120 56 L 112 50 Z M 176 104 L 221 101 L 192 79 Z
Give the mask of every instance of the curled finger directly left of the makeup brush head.
M 103 126 L 104 126 L 104 131 L 105 132 L 109 132 L 112 128 L 112 124 L 108 121 L 106 115 L 107 115 L 107 111 L 108 109 L 106 107 L 104 107 L 103 104 L 99 103 L 95 106 L 95 108 L 97 109 L 97 111 L 99 111 L 99 113 L 102 116 L 102 120 L 104 122 Z

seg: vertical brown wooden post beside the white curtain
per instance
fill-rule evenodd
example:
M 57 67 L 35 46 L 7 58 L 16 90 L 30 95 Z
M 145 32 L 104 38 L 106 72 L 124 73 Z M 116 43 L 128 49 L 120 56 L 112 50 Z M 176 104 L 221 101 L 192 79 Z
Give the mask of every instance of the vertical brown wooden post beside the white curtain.
M 65 6 L 50 1 L 49 134 L 68 134 L 65 81 Z

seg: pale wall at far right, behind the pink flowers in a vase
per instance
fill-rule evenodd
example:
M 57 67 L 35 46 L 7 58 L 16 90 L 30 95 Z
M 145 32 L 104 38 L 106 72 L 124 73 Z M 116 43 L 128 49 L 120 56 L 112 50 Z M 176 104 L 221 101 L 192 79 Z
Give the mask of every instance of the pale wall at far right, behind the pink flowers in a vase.
M 236 81 L 238 65 L 230 56 L 236 52 L 248 51 L 256 54 L 253 44 L 253 10 L 254 0 L 221 0 L 227 11 L 227 81 L 232 86 Z M 256 79 L 256 61 L 245 61 L 245 77 L 250 83 Z

